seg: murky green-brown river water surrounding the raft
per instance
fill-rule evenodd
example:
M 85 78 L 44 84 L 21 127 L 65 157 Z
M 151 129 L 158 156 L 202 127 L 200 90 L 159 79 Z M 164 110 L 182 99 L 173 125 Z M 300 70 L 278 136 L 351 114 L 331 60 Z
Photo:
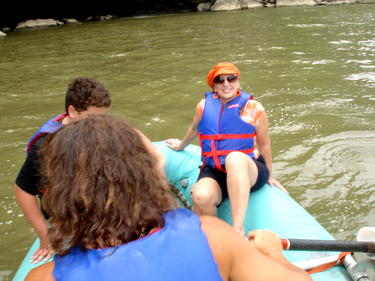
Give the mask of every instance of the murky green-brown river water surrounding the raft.
M 109 113 L 183 138 L 216 63 L 269 116 L 274 175 L 336 239 L 375 225 L 375 5 L 188 13 L 18 31 L 0 40 L 0 281 L 36 235 L 13 184 L 31 135 L 92 76 Z M 277 206 L 269 206 L 277 208 Z

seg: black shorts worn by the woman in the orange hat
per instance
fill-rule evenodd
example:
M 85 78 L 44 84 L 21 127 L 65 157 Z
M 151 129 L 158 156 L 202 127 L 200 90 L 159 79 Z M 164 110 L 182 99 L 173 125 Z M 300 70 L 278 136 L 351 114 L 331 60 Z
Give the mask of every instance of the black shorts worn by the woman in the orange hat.
M 267 183 L 268 178 L 270 177 L 270 173 L 268 171 L 266 162 L 264 161 L 262 155 L 259 155 L 259 157 L 253 161 L 255 162 L 255 165 L 258 168 L 258 178 L 256 183 L 251 187 L 250 192 L 256 191 L 263 187 Z M 204 166 L 198 176 L 197 181 L 199 181 L 202 178 L 212 178 L 219 184 L 222 196 L 221 202 L 223 202 L 225 198 L 228 198 L 227 173 L 224 173 L 218 170 L 217 168 Z

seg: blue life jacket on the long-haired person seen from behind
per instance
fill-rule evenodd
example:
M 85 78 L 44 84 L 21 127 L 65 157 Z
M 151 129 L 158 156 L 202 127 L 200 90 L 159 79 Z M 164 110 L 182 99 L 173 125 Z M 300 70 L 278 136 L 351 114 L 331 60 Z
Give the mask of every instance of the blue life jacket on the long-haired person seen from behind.
M 199 217 L 187 209 L 166 212 L 165 226 L 117 248 L 55 255 L 56 281 L 222 280 L 201 230 Z

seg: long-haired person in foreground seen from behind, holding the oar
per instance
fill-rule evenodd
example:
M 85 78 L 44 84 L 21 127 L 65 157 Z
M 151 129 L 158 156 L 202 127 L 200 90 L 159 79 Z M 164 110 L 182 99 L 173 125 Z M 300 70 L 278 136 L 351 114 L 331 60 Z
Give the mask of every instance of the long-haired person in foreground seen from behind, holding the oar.
M 282 255 L 275 233 L 250 232 L 249 243 L 217 218 L 177 209 L 158 160 L 118 117 L 69 124 L 40 154 L 57 254 L 26 281 L 311 281 Z

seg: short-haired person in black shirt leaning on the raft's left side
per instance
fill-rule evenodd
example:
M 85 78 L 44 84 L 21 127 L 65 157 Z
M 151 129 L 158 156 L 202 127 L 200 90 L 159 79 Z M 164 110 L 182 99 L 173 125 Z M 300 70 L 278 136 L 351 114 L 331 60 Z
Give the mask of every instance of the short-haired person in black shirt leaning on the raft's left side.
M 26 148 L 27 157 L 14 184 L 17 201 L 40 241 L 40 246 L 30 262 L 38 263 L 43 258 L 47 261 L 54 253 L 47 239 L 48 225 L 45 219 L 48 219 L 48 216 L 43 208 L 39 208 L 37 199 L 39 197 L 42 202 L 45 192 L 40 188 L 38 151 L 41 145 L 48 134 L 88 116 L 106 114 L 110 105 L 110 93 L 99 81 L 90 77 L 74 79 L 65 95 L 65 113 L 47 121 L 30 139 Z M 138 133 L 155 155 L 164 157 L 141 132 Z

